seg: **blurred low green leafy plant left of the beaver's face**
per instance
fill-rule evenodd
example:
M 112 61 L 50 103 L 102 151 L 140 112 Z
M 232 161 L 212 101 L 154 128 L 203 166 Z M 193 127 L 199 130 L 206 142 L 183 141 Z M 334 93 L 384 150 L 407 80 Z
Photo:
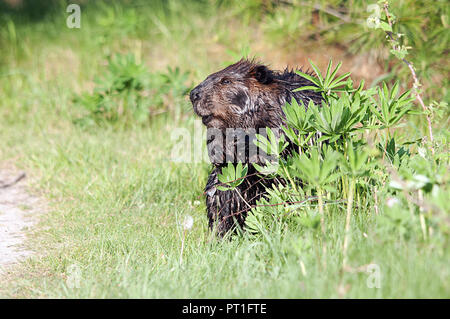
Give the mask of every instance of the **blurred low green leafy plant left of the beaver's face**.
M 86 111 L 75 122 L 83 126 L 148 123 L 151 115 L 179 108 L 177 104 L 190 89 L 186 85 L 187 77 L 179 68 L 150 73 L 134 55 L 115 55 L 108 58 L 103 76 L 94 80 L 93 93 L 74 98 L 74 104 Z

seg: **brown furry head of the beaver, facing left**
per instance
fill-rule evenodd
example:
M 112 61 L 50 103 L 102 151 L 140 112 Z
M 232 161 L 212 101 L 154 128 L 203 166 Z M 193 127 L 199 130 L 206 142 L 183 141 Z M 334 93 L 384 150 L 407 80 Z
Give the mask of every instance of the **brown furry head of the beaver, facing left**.
M 293 92 L 312 85 L 293 71 L 270 70 L 255 61 L 240 60 L 209 75 L 190 93 L 197 115 L 208 128 L 280 127 L 282 106 L 294 97 L 307 105 L 320 101 L 312 91 Z

